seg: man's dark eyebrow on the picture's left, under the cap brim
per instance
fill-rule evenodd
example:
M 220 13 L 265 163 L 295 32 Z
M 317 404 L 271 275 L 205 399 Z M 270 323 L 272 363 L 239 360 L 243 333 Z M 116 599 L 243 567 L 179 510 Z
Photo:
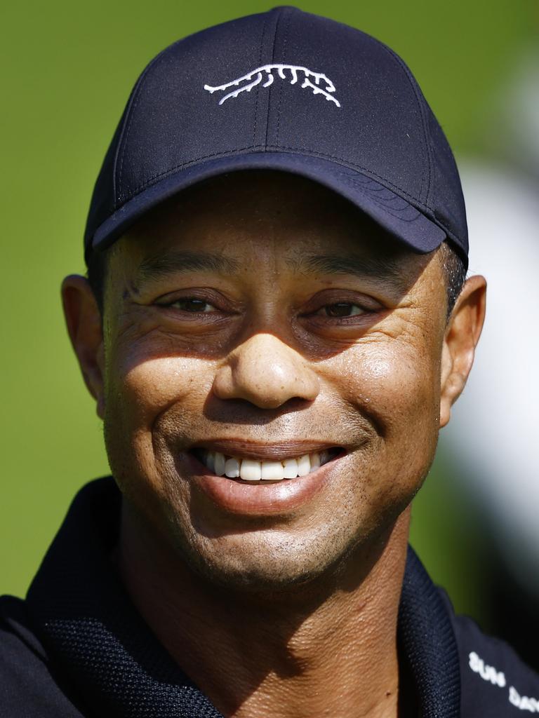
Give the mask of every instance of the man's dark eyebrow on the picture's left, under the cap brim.
M 172 274 L 185 274 L 192 271 L 217 271 L 233 274 L 239 269 L 239 261 L 222 254 L 211 252 L 172 251 L 149 256 L 139 264 L 136 284 L 165 279 Z

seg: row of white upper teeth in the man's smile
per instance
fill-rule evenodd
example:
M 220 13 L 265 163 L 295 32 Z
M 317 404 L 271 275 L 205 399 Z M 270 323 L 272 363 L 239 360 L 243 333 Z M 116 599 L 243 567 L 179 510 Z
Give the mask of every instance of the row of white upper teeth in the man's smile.
M 330 460 L 329 452 L 313 452 L 283 461 L 257 461 L 227 456 L 221 452 L 203 451 L 201 460 L 208 469 L 218 476 L 244 481 L 279 481 L 305 476 Z

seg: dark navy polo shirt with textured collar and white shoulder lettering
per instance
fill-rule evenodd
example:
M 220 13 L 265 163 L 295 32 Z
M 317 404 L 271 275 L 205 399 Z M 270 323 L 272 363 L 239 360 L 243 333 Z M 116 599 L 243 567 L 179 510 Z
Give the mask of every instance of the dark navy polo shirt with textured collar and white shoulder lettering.
M 120 503 L 110 478 L 88 484 L 27 599 L 0 598 L 0 718 L 221 717 L 157 642 L 119 581 L 109 556 Z M 414 716 L 539 714 L 539 676 L 505 643 L 456 617 L 412 549 L 398 644 L 401 689 Z

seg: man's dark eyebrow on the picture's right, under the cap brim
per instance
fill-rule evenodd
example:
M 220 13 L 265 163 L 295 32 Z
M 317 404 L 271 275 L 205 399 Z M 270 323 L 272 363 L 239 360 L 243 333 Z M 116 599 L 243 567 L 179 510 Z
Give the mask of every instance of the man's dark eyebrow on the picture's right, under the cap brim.
M 402 292 L 407 289 L 405 267 L 391 258 L 366 257 L 354 254 L 337 256 L 316 254 L 293 261 L 293 269 L 301 274 L 353 274 L 388 281 Z

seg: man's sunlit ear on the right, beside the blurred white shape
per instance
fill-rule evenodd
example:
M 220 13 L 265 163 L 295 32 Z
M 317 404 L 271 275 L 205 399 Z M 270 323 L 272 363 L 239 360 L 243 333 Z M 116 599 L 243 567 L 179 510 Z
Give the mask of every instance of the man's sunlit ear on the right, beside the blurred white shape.
M 451 417 L 451 406 L 464 389 L 474 363 L 477 342 L 481 336 L 487 296 L 487 281 L 472 276 L 466 281 L 443 338 L 441 363 L 440 426 Z

